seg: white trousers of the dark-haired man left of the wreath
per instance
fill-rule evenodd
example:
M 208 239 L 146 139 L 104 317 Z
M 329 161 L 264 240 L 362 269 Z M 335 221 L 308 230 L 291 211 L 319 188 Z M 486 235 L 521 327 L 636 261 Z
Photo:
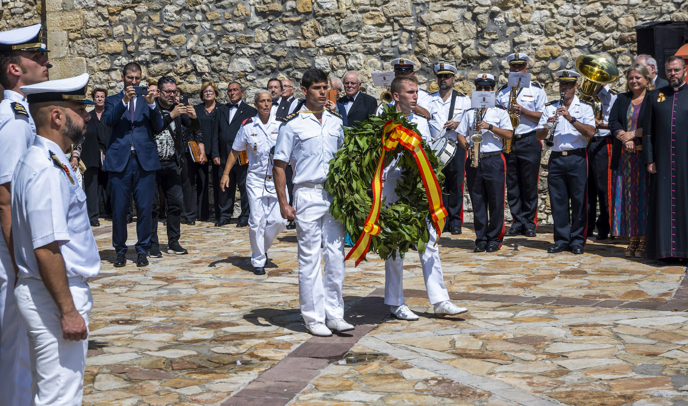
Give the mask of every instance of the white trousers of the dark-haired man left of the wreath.
M 299 303 L 306 324 L 343 319 L 344 226 L 330 214 L 332 196 L 323 189 L 294 185 L 299 243 Z M 322 256 L 324 277 L 320 275 Z

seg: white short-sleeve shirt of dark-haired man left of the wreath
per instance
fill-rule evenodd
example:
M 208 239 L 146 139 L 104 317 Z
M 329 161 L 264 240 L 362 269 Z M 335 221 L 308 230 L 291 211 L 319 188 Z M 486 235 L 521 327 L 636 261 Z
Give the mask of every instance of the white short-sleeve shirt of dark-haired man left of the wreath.
M 325 110 L 318 121 L 310 112 L 298 111 L 285 118 L 275 145 L 275 160 L 291 162 L 294 184 L 325 183 L 330 160 L 344 143 L 342 119 Z

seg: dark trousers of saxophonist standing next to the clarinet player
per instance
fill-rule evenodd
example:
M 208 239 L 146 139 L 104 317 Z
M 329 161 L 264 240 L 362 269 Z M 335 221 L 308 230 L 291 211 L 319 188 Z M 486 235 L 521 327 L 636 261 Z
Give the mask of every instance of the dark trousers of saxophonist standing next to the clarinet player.
M 506 201 L 511 211 L 511 228 L 519 232 L 537 227 L 537 182 L 540 177 L 542 141 L 532 135 L 514 138 L 506 154 Z

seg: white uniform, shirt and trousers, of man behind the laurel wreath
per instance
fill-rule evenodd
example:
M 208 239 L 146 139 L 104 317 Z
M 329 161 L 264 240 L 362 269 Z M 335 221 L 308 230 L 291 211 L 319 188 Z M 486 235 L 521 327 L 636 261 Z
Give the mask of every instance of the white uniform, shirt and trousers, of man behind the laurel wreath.
M 407 120 L 416 123 L 418 126 L 418 135 L 422 136 L 425 142 L 429 142 L 430 129 L 427 118 L 411 113 Z M 396 167 L 396 160 L 390 162 L 383 171 L 383 199 L 387 205 L 399 200 L 399 196 L 395 193 L 397 182 L 402 177 L 402 170 Z M 430 239 L 425 244 L 425 252 L 418 256 L 420 257 L 420 266 L 423 270 L 423 279 L 425 281 L 425 289 L 428 292 L 428 299 L 431 304 L 440 303 L 449 300 L 447 288 L 444 286 L 444 276 L 442 275 L 442 264 L 440 263 L 439 247 L 435 244 L 437 241 L 437 232 L 428 222 L 428 230 L 430 232 Z M 389 306 L 401 306 L 404 304 L 404 259 L 396 253 L 396 259 L 385 260 L 385 304 Z

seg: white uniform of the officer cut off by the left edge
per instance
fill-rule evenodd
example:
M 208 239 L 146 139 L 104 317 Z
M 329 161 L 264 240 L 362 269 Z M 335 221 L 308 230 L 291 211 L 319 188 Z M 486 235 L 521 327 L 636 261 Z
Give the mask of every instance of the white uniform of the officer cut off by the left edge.
M 24 97 L 12 90 L 0 102 L 0 184 L 12 181 L 19 158 L 34 142 L 36 125 Z M 13 109 L 14 103 L 17 110 Z M 26 114 L 21 114 L 25 111 Z M 61 151 L 58 151 L 62 153 Z M 0 234 L 0 405 L 31 402 L 31 364 L 26 329 L 14 301 L 14 266 L 5 239 Z M 11 377 L 11 378 L 10 378 Z

